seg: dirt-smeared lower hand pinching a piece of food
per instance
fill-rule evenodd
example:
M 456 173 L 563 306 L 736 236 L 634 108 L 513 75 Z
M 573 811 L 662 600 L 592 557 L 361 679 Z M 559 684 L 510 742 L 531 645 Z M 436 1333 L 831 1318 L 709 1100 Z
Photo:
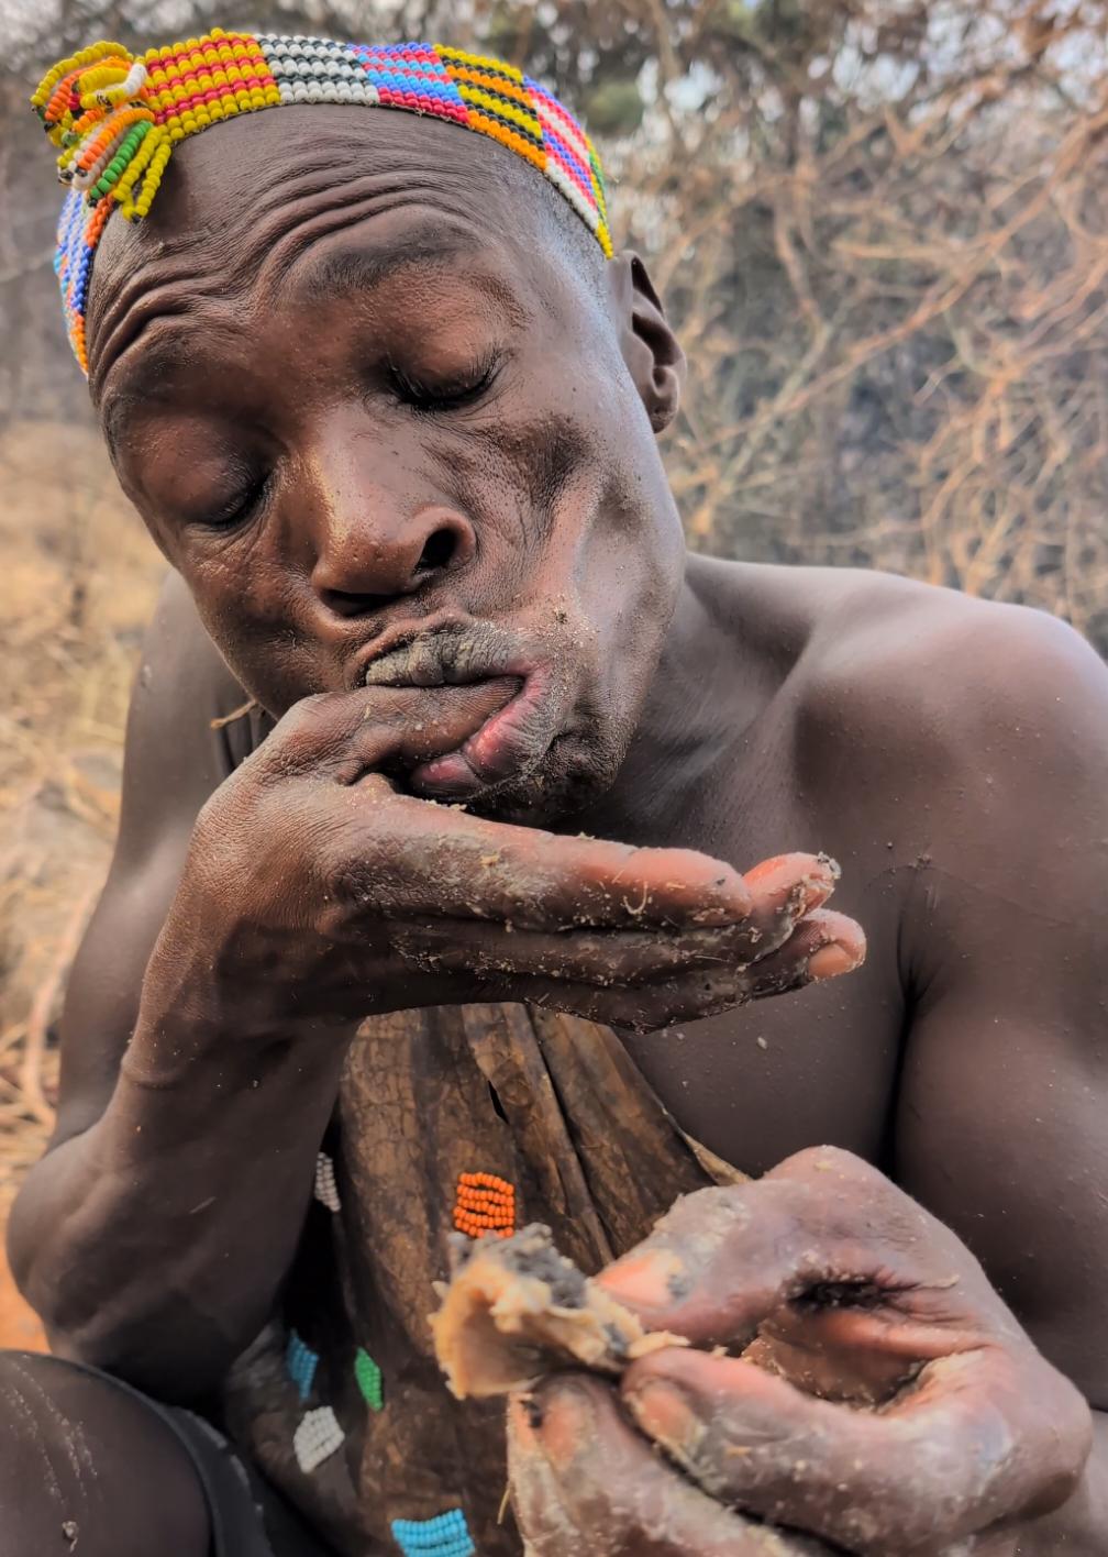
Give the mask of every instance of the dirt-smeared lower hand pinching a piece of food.
M 643 1358 L 626 1415 L 579 1375 L 514 1403 L 534 1557 L 773 1551 L 745 1515 L 784 1527 L 781 1552 L 1010 1557 L 1080 1479 L 1078 1392 L 954 1233 L 847 1152 L 688 1196 L 599 1280 L 652 1328 L 742 1355 Z

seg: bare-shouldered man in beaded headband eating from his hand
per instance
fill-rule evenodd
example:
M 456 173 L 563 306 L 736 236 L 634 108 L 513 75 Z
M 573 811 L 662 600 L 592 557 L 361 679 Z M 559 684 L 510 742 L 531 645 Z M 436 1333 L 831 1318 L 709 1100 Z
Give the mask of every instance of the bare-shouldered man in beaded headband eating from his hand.
M 12 1549 L 1108 1549 L 1097 657 L 685 554 L 680 349 L 518 73 L 213 34 L 37 103 L 174 571 L 12 1221 Z M 509 1513 L 425 1316 L 523 1219 L 694 1347 L 514 1401 Z

